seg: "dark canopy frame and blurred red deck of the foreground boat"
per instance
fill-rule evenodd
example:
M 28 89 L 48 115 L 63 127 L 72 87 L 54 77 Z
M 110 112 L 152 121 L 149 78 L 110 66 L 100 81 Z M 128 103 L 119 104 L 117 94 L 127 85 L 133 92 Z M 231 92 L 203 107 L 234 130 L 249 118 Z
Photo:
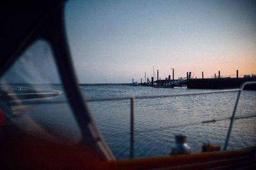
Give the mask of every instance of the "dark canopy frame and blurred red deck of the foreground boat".
M 46 39 L 52 47 L 67 101 L 81 131 L 81 141 L 74 144 L 45 138 L 41 135 L 44 129 L 38 128 L 36 121 L 26 117 L 26 113 L 13 117 L 7 109 L 10 103 L 1 100 L 1 169 L 255 169 L 255 148 L 116 160 L 79 89 L 63 23 L 64 6 L 65 1 L 18 1 L 3 8 L 2 33 L 8 34 L 8 38 L 1 39 L 0 75 L 3 76 L 36 39 Z M 243 87 L 237 92 L 241 90 Z M 129 98 L 131 110 L 134 110 L 136 98 L 140 97 Z M 132 129 L 131 124 L 131 134 Z

